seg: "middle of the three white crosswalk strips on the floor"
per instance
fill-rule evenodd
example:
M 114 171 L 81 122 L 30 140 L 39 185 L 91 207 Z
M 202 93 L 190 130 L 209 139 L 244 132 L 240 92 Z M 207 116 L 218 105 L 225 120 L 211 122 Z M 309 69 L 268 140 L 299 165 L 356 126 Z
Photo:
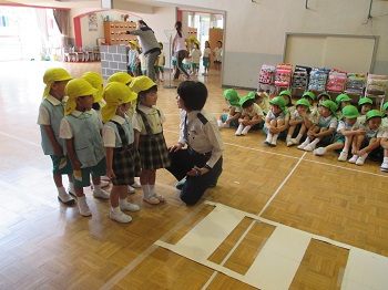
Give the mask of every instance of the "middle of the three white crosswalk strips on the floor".
M 288 289 L 306 252 L 312 235 L 279 225 L 244 276 L 262 289 Z

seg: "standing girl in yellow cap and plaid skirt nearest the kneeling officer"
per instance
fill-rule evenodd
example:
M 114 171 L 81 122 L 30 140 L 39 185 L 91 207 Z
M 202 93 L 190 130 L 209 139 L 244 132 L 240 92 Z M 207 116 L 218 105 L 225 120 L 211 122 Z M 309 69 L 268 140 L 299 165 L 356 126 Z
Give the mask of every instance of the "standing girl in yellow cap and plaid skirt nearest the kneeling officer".
M 137 106 L 132 121 L 142 164 L 140 183 L 144 194 L 143 200 L 157 205 L 164 201 L 164 197 L 155 193 L 156 169 L 170 166 L 162 125 L 165 117 L 155 106 L 157 85 L 150 77 L 134 77 L 130 87 L 132 92 L 137 93 Z

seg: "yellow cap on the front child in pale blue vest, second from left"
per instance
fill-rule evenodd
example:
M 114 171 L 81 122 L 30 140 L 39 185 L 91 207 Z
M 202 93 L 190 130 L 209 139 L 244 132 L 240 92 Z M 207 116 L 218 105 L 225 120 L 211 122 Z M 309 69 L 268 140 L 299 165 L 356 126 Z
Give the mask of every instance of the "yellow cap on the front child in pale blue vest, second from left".
M 75 99 L 83 95 L 94 95 L 96 93 L 96 89 L 94 89 L 90 83 L 82 79 L 73 79 L 71 80 L 67 86 L 64 87 L 64 92 L 69 96 L 67 105 L 64 107 L 64 114 L 69 115 L 74 112 L 76 103 Z

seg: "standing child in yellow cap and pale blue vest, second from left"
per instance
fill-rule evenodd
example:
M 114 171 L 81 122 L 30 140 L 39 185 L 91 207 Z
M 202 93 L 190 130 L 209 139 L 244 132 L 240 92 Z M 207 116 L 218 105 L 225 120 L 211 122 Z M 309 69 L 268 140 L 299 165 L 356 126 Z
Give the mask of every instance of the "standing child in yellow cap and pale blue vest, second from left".
M 106 174 L 105 152 L 101 137 L 102 122 L 92 108 L 98 92 L 82 79 L 71 80 L 65 86 L 69 96 L 60 137 L 67 141 L 67 149 L 73 165 L 74 189 L 81 216 L 90 216 L 83 187 L 93 180 L 93 196 L 108 199 L 109 193 L 101 189 L 101 176 Z

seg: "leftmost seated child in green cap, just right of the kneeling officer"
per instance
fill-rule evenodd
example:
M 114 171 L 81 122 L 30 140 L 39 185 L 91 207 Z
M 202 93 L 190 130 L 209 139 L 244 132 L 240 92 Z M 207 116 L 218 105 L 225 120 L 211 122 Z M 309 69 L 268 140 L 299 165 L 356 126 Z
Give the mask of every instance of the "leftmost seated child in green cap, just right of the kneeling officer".
M 239 96 L 233 89 L 224 91 L 225 101 L 228 103 L 228 114 L 222 114 L 217 121 L 218 127 L 228 128 L 229 126 L 238 127 L 238 118 L 242 115 L 242 106 L 239 105 Z

